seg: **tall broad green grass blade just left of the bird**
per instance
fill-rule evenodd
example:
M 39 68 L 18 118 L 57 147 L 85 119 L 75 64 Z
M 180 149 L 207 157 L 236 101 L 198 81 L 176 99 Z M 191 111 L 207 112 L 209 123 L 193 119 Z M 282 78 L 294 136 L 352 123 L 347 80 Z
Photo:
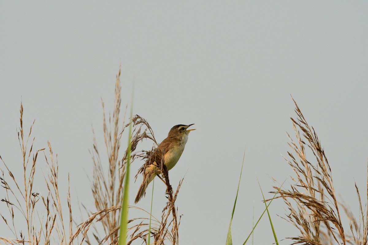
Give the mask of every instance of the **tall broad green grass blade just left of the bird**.
M 134 85 L 133 85 L 134 86 Z M 124 191 L 123 200 L 121 201 L 120 209 L 120 228 L 119 228 L 119 245 L 127 244 L 128 233 L 128 204 L 129 204 L 129 173 L 130 173 L 130 155 L 131 155 L 131 138 L 132 138 L 132 118 L 133 118 L 133 89 L 132 89 L 132 101 L 130 107 L 130 124 L 128 135 L 128 149 L 127 149 L 127 164 L 125 166 L 125 179 L 124 179 Z

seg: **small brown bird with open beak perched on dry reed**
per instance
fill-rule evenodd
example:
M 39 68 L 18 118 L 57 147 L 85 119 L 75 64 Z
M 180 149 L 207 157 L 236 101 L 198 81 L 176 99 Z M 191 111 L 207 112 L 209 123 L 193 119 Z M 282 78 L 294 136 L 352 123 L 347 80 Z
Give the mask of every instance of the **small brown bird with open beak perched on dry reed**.
M 139 200 L 146 195 L 146 188 L 148 184 L 155 178 L 156 175 L 159 176 L 161 173 L 158 166 L 160 166 L 159 164 L 162 155 L 167 171 L 172 169 L 179 161 L 179 158 L 184 151 L 185 144 L 188 141 L 188 135 L 190 131 L 195 130 L 188 129 L 188 127 L 192 125 L 194 124 L 175 125 L 170 129 L 169 134 L 167 134 L 167 138 L 165 138 L 158 145 L 158 147 L 153 150 L 151 156 L 145 162 L 142 184 L 139 186 L 134 203 L 139 202 Z M 160 179 L 162 178 L 160 177 Z

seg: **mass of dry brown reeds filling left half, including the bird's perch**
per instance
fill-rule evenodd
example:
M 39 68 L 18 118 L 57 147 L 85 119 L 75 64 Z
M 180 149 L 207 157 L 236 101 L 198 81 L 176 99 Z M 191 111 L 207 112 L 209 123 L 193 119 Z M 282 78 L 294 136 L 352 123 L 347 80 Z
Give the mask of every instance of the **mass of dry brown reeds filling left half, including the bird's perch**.
M 92 213 L 91 211 L 86 210 L 82 205 L 91 215 L 89 215 L 88 219 L 81 224 L 77 224 L 76 221 L 72 219 L 69 189 L 67 193 L 69 219 L 68 223 L 64 222 L 65 217 L 63 216 L 62 202 L 59 195 L 57 155 L 56 161 L 54 161 L 52 148 L 49 142 L 49 157 L 45 155 L 47 170 L 49 172 L 47 177 L 45 177 L 47 190 L 44 194 L 39 194 L 34 191 L 35 187 L 33 186 L 33 181 L 35 180 L 37 156 L 39 151 L 43 151 L 45 149 L 39 149 L 34 153 L 32 151 L 34 138 L 30 149 L 27 149 L 33 124 L 29 130 L 28 138 L 25 139 L 22 120 L 23 107 L 21 105 L 18 139 L 23 156 L 23 178 L 18 179 L 15 177 L 4 161 L 3 164 L 6 167 L 7 174 L 2 170 L 2 176 L 0 177 L 2 187 L 5 191 L 5 197 L 1 199 L 1 201 L 7 206 L 8 216 L 10 216 L 10 219 L 4 217 L 3 214 L 1 214 L 1 217 L 14 238 L 0 237 L 0 241 L 5 244 L 70 245 L 82 244 L 83 242 L 86 244 L 96 244 L 96 242 L 97 244 L 117 244 L 119 213 L 124 190 L 123 180 L 125 176 L 125 165 L 127 162 L 127 151 L 125 151 L 123 158 L 119 158 L 118 154 L 121 136 L 124 129 L 129 126 L 125 125 L 120 128 L 120 125 L 124 125 L 124 122 L 120 124 L 119 120 L 121 105 L 120 93 L 121 84 L 119 71 L 116 76 L 114 111 L 112 115 L 109 115 L 108 123 L 106 122 L 104 103 L 102 101 L 103 136 L 105 139 L 107 161 L 102 160 L 100 157 L 94 132 L 93 147 L 90 151 L 93 162 L 91 190 L 95 208 L 98 211 Z M 132 162 L 137 158 L 142 159 L 145 162 L 145 160 L 150 157 L 153 148 L 157 147 L 158 144 L 155 140 L 152 128 L 144 118 L 136 115 L 134 116 L 132 123 L 134 126 L 131 141 Z M 152 150 L 136 151 L 138 143 L 144 139 L 152 140 Z M 30 158 L 32 154 L 33 157 Z M 0 159 L 1 161 L 3 160 L 1 156 Z M 107 174 L 104 173 L 104 166 L 108 166 Z M 167 195 L 168 202 L 163 208 L 161 219 L 157 219 L 152 216 L 150 236 L 153 237 L 154 244 L 157 245 L 167 242 L 169 244 L 177 244 L 180 218 L 177 219 L 175 201 L 183 180 L 179 181 L 176 191 L 173 192 L 165 165 L 160 164 L 158 167 L 162 168 L 162 176 L 167 185 L 168 191 L 165 192 L 165 194 Z M 144 165 L 139 169 L 137 175 L 142 171 L 142 169 L 144 169 Z M 8 177 L 11 179 L 11 184 L 8 183 Z M 41 203 L 38 202 L 39 199 L 42 199 Z M 134 206 L 130 206 L 130 208 L 140 209 Z M 140 210 L 149 216 L 148 212 L 143 209 Z M 24 217 L 24 223 L 22 223 L 22 225 L 26 225 L 26 233 L 21 231 L 24 230 L 23 226 L 18 227 L 17 224 L 15 224 L 15 215 L 21 215 Z M 77 226 L 74 232 L 72 230 L 73 223 Z M 142 242 L 146 243 L 146 238 L 149 235 L 149 219 L 135 218 L 129 220 L 128 223 L 130 224 L 130 227 L 128 228 L 129 237 L 127 244 L 131 244 L 135 240 L 140 240 L 139 244 L 142 244 Z M 68 230 L 65 229 L 66 226 L 68 226 Z M 103 234 L 101 235 L 100 233 L 102 231 Z M 95 241 L 92 241 L 92 237 Z

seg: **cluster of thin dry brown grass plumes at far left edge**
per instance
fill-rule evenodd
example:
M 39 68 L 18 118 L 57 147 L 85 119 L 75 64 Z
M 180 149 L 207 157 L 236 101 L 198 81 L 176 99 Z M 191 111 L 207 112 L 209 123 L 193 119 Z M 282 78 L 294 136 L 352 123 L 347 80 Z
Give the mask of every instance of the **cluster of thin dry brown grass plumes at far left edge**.
M 46 195 L 35 192 L 35 174 L 37 156 L 39 151 L 45 150 L 39 149 L 36 152 L 33 151 L 33 143 L 35 138 L 32 139 L 29 150 L 27 149 L 29 140 L 31 139 L 32 126 L 29 129 L 28 137 L 24 136 L 23 129 L 23 106 L 20 107 L 20 128 L 18 131 L 18 141 L 22 152 L 23 172 L 22 178 L 14 176 L 9 167 L 3 161 L 0 156 L 3 165 L 6 167 L 7 174 L 4 170 L 1 170 L 2 176 L 0 177 L 2 187 L 5 189 L 5 197 L 1 199 L 2 204 L 8 208 L 8 215 L 10 219 L 6 219 L 4 214 L 1 214 L 3 221 L 9 228 L 14 238 L 0 237 L 0 241 L 4 244 L 64 244 L 66 245 L 69 236 L 64 226 L 63 213 L 61 200 L 59 195 L 59 183 L 58 183 L 58 163 L 57 156 L 54 161 L 53 152 L 50 142 L 48 142 L 50 156 L 45 159 L 47 163 L 48 175 L 45 177 L 46 190 L 42 190 L 42 186 L 38 186 L 38 190 L 44 191 Z M 32 155 L 32 158 L 31 158 Z M 10 181 L 7 178 L 10 177 Z M 38 202 L 42 199 L 42 202 Z M 67 194 L 68 211 L 69 211 L 69 235 L 72 233 L 72 212 L 70 205 L 70 192 Z M 23 222 L 19 222 L 17 216 L 21 216 Z M 39 216 L 43 217 L 39 217 Z M 15 222 L 17 219 L 17 222 Z M 25 228 L 25 229 L 24 229 Z M 26 231 L 25 233 L 22 230 Z M 5 231 L 3 231 L 5 232 Z

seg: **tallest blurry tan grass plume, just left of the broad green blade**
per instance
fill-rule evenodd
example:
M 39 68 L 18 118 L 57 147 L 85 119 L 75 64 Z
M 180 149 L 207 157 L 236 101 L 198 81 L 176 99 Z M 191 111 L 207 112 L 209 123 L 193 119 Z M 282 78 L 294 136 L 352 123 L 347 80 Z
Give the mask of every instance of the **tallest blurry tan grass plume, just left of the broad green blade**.
M 91 154 L 93 162 L 93 178 L 91 190 L 96 210 L 105 210 L 109 207 L 120 205 L 123 196 L 125 169 L 120 168 L 121 160 L 118 156 L 118 152 L 120 149 L 120 140 L 124 131 L 124 128 L 120 129 L 120 125 L 124 125 L 124 122 L 121 124 L 119 117 L 121 106 L 120 72 L 121 69 L 119 69 L 118 74 L 116 75 L 113 114 L 109 114 L 108 118 L 106 118 L 105 114 L 105 104 L 101 99 L 103 114 L 102 126 L 107 152 L 107 161 L 101 160 L 95 132 L 92 129 L 93 147 L 92 150 L 90 150 L 89 152 Z M 103 171 L 103 166 L 108 166 L 107 174 L 105 174 L 105 172 Z M 110 234 L 110 232 L 119 224 L 119 212 L 107 212 L 106 214 L 100 214 L 100 216 L 102 215 L 104 219 L 99 220 L 99 223 L 102 225 L 102 229 L 93 226 L 93 237 L 98 243 L 102 240 L 101 236 L 105 237 L 106 234 Z M 98 232 L 101 230 L 103 230 L 103 235 Z M 110 243 L 113 243 L 114 241 L 116 242 L 117 238 L 117 231 L 110 234 Z M 92 243 L 87 233 L 84 233 L 83 239 L 85 239 L 88 244 Z

